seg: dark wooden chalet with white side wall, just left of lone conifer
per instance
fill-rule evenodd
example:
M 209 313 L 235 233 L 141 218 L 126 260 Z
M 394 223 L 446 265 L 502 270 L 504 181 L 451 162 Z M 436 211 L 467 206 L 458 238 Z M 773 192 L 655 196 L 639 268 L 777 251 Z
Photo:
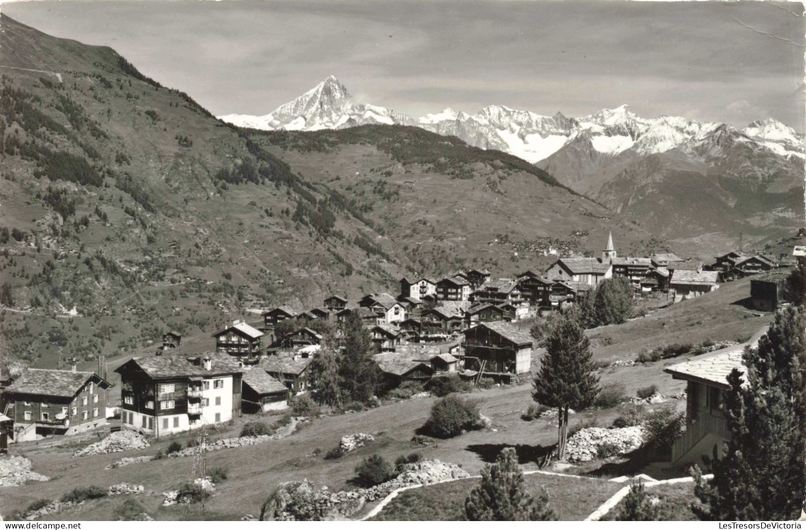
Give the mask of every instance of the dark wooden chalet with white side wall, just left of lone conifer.
M 464 368 L 480 376 L 510 381 L 530 370 L 532 337 L 510 323 L 480 323 L 465 330 L 464 343 Z

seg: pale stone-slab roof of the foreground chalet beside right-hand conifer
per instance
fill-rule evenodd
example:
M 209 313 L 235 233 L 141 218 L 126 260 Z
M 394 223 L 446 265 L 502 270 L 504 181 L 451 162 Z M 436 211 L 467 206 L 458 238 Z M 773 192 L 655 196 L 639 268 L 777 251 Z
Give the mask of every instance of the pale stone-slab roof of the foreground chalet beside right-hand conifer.
M 713 386 L 720 386 L 721 388 L 729 388 L 727 377 L 733 371 L 738 369 L 744 373 L 745 365 L 742 360 L 745 347 L 750 348 L 758 347 L 758 339 L 767 333 L 767 326 L 759 329 L 754 336 L 744 344 L 737 344 L 722 348 L 716 352 L 705 353 L 697 357 L 692 357 L 686 362 L 679 365 L 669 366 L 663 369 L 667 374 L 671 374 L 675 379 L 685 379 L 688 381 L 705 382 Z

